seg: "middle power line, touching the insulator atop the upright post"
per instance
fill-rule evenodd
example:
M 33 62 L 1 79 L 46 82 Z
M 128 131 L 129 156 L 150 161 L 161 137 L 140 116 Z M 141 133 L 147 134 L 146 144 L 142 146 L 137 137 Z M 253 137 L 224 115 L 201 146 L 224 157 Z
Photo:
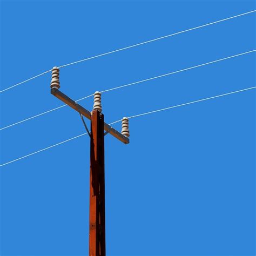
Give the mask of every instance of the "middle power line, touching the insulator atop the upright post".
M 147 78 L 147 79 L 144 79 L 144 80 L 140 80 L 140 81 L 137 81 L 137 82 L 134 82 L 134 83 L 130 83 L 130 84 L 121 85 L 121 86 L 118 86 L 118 87 L 113 87 L 113 88 L 111 88 L 111 89 L 107 89 L 107 90 L 101 91 L 101 93 L 103 93 L 103 92 L 108 92 L 108 91 L 113 91 L 113 90 L 117 90 L 117 89 L 120 89 L 120 88 L 123 88 L 123 87 L 127 87 L 127 86 L 130 86 L 130 85 L 134 85 L 134 84 L 143 83 L 143 82 L 146 82 L 146 81 L 149 81 L 149 80 L 153 80 L 153 79 L 157 79 L 157 78 L 160 78 L 160 77 L 170 76 L 170 75 L 173 75 L 173 74 L 175 74 L 175 73 L 183 72 L 183 71 L 190 70 L 190 69 L 199 68 L 200 66 L 205 66 L 205 65 L 212 64 L 212 63 L 215 63 L 215 62 L 220 62 L 220 61 L 222 61 L 222 60 L 226 60 L 226 59 L 238 57 L 238 56 L 245 55 L 245 54 L 247 54 L 247 53 L 251 53 L 251 52 L 254 52 L 254 51 L 256 51 L 256 50 L 247 51 L 247 52 L 242 52 L 242 53 L 239 53 L 239 54 L 237 54 L 237 55 L 233 55 L 233 56 L 229 56 L 229 57 L 225 57 L 225 58 L 213 60 L 212 62 L 207 62 L 207 63 L 204 63 L 204 64 L 192 66 L 192 67 L 190 67 L 190 68 L 181 69 L 181 70 L 178 70 L 178 71 L 166 73 L 166 74 L 164 74 L 164 75 L 160 75 L 160 76 L 156 76 L 156 77 Z M 79 102 L 80 100 L 89 98 L 89 97 L 91 97 L 91 96 L 93 96 L 93 94 L 92 94 L 92 95 L 85 96 L 85 97 L 83 97 L 83 98 L 80 98 L 80 99 L 76 100 L 76 102 Z M 43 113 L 36 114 L 35 116 L 26 118 L 26 119 L 24 119 L 24 120 L 21 120 L 21 121 L 19 121 L 19 122 L 14 123 L 14 124 L 7 125 L 7 126 L 1 128 L 0 130 L 4 130 L 4 129 L 7 129 L 7 128 L 11 127 L 11 126 L 14 126 L 14 125 L 17 125 L 17 124 L 21 124 L 21 123 L 23 123 L 23 122 L 26 122 L 26 121 L 28 121 L 28 120 L 30 120 L 30 119 L 33 119 L 33 118 L 36 118 L 36 117 L 39 117 L 39 116 L 43 116 L 43 114 L 50 113 L 50 112 L 52 112 L 52 111 L 58 110 L 58 109 L 60 109 L 60 108 L 62 108 L 62 107 L 64 107 L 64 106 L 66 106 L 66 105 L 62 105 L 62 106 L 59 106 L 59 107 L 55 107 L 55 109 L 51 109 L 51 110 L 45 111 L 45 112 L 43 112 Z

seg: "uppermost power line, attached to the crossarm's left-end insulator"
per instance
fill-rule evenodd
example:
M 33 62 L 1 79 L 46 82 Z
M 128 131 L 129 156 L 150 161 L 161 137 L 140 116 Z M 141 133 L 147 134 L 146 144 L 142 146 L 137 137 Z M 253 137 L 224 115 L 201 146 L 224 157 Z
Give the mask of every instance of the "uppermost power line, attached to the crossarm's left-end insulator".
M 185 33 L 185 32 L 188 32 L 188 31 L 200 29 L 200 28 L 203 28 L 203 27 L 205 27 L 205 26 L 209 26 L 209 25 L 213 25 L 213 24 L 216 24 L 216 23 L 220 23 L 220 22 L 227 21 L 227 20 L 229 20 L 229 19 L 237 18 L 237 17 L 244 16 L 244 15 L 247 15 L 247 14 L 252 14 L 252 13 L 255 12 L 255 11 L 256 11 L 256 10 L 244 12 L 243 14 L 235 15 L 235 16 L 228 17 L 228 18 L 225 18 L 225 19 L 220 19 L 219 21 L 215 21 L 215 22 L 211 22 L 211 23 L 204 24 L 204 25 L 196 26 L 196 27 L 191 28 L 191 29 L 186 29 L 186 30 L 183 30 L 183 31 L 179 31 L 179 32 L 176 32 L 176 33 L 172 33 L 172 34 L 170 34 L 170 35 L 166 35 L 166 36 L 154 38 L 154 39 L 151 39 L 151 40 L 149 40 L 149 41 L 142 42 L 142 43 L 133 44 L 133 45 L 127 46 L 127 47 L 125 47 L 125 48 L 120 48 L 120 49 L 117 49 L 117 50 L 105 52 L 105 53 L 102 53 L 102 54 L 100 54 L 100 55 L 92 56 L 92 57 L 89 57 L 89 58 L 85 58 L 85 59 L 78 60 L 78 61 L 76 61 L 76 62 L 71 62 L 71 63 L 65 64 L 65 65 L 58 66 L 58 68 L 64 68 L 65 66 L 70 66 L 70 65 L 73 65 L 73 64 L 77 64 L 77 63 L 80 63 L 80 62 L 84 62 L 84 61 L 86 61 L 86 60 L 95 59 L 95 58 L 98 58 L 98 57 L 102 57 L 102 56 L 105 56 L 105 55 L 109 55 L 109 54 L 114 53 L 114 52 L 123 51 L 123 50 L 130 49 L 130 48 L 133 48 L 133 47 L 136 47 L 136 46 L 139 46 L 139 45 L 151 43 L 151 42 L 154 42 L 154 41 L 158 41 L 158 40 L 160 40 L 160 39 L 164 39 L 164 38 L 167 38 L 167 37 L 179 35 L 179 34 L 181 34 L 181 33 Z M 9 89 L 11 89 L 11 88 L 14 88 L 14 87 L 16 87 L 16 86 L 18 86 L 18 85 L 21 85 L 21 84 L 23 84 L 23 83 L 25 83 L 25 82 L 28 82 L 29 80 L 32 80 L 32 79 L 34 79 L 34 78 L 36 78 L 36 77 L 42 76 L 42 75 L 44 75 L 45 73 L 48 73 L 48 72 L 50 72 L 50 71 L 51 71 L 51 69 L 48 70 L 48 71 L 45 71 L 45 72 L 43 72 L 43 73 L 41 73 L 41 74 L 39 74 L 39 75 L 37 75 L 37 76 L 31 77 L 31 78 L 29 78 L 29 79 L 26 79 L 26 80 L 24 80 L 24 81 L 21 82 L 21 83 L 12 85 L 12 86 L 10 86 L 10 87 L 7 87 L 6 89 L 0 91 L 0 93 L 2 93 L 2 92 L 4 92 L 4 91 L 7 91 L 7 90 L 9 90 Z

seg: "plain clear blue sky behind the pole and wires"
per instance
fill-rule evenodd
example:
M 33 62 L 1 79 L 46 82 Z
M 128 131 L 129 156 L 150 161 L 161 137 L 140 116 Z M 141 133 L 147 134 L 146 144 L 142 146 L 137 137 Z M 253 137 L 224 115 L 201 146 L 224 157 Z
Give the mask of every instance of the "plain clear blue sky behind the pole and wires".
M 255 1 L 1 1 L 2 89 L 255 9 Z M 73 99 L 255 49 L 255 13 L 60 70 Z M 1 95 L 1 127 L 62 105 L 50 73 Z M 106 122 L 255 86 L 255 52 L 106 92 Z M 80 102 L 92 108 L 92 98 Z M 89 123 L 88 123 L 89 124 Z M 120 123 L 114 127 L 120 130 Z M 84 133 L 64 107 L 1 131 L 1 163 Z M 255 91 L 105 137 L 107 255 L 255 255 Z M 1 255 L 87 255 L 88 136 L 1 168 Z

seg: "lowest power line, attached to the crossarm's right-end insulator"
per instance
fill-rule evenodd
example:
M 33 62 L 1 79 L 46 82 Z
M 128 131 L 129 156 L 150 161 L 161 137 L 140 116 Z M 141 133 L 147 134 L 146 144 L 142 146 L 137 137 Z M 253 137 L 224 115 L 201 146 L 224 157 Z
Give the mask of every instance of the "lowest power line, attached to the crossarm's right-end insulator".
M 146 113 L 136 114 L 136 115 L 130 116 L 130 117 L 128 117 L 128 118 L 131 119 L 131 118 L 135 118 L 135 117 L 145 116 L 146 114 L 152 114 L 152 113 L 156 113 L 156 112 L 160 112 L 160 111 L 164 111 L 164 110 L 174 109 L 175 107 L 180 107 L 180 106 L 190 105 L 190 104 L 193 104 L 193 103 L 203 102 L 203 101 L 205 101 L 205 100 L 214 99 L 214 98 L 219 98 L 219 97 L 223 97 L 223 96 L 227 96 L 227 95 L 232 95 L 232 94 L 234 94 L 234 93 L 243 92 L 243 91 L 248 91 L 248 90 L 252 90 L 252 89 L 255 89 L 255 88 L 256 88 L 256 86 L 253 86 L 253 87 L 245 88 L 245 89 L 238 90 L 238 91 L 227 92 L 227 93 L 224 93 L 224 94 L 221 94 L 221 95 L 217 95 L 217 96 L 213 96 L 213 97 L 208 97 L 208 98 L 204 98 L 204 99 L 194 100 L 193 102 L 187 102 L 187 103 L 183 103 L 183 104 L 179 104 L 179 105 L 175 105 L 175 106 L 165 107 L 164 109 L 159 109 L 159 110 L 154 110 L 154 111 L 150 111 L 150 112 L 146 112 Z M 117 121 L 111 123 L 110 125 L 116 124 L 116 123 L 121 122 L 121 121 L 122 121 L 122 119 L 119 119 L 119 120 L 117 120 Z M 36 152 L 27 154 L 26 156 L 23 156 L 23 157 L 20 157 L 20 158 L 11 160 L 11 161 L 9 161 L 9 162 L 7 162 L 7 163 L 4 163 L 4 164 L 0 165 L 0 167 L 1 167 L 1 166 L 4 166 L 4 165 L 11 164 L 11 163 L 14 163 L 15 161 L 21 160 L 21 159 L 23 159 L 23 158 L 32 156 L 33 154 L 37 154 L 37 153 L 39 153 L 39 152 L 42 152 L 42 151 L 51 149 L 52 147 L 58 146 L 58 145 L 60 145 L 60 144 L 69 142 L 70 140 L 73 140 L 73 139 L 79 138 L 79 137 L 81 137 L 81 136 L 84 136 L 85 134 L 87 134 L 87 132 L 86 132 L 86 133 L 82 133 L 82 134 L 80 134 L 80 135 L 78 135 L 78 136 L 76 136 L 76 137 L 72 137 L 72 138 L 70 138 L 70 139 L 64 140 L 63 142 L 60 142 L 60 143 L 51 145 L 51 146 L 49 146 L 49 147 L 45 147 L 45 148 L 42 149 L 42 150 L 38 150 L 38 151 L 36 151 Z

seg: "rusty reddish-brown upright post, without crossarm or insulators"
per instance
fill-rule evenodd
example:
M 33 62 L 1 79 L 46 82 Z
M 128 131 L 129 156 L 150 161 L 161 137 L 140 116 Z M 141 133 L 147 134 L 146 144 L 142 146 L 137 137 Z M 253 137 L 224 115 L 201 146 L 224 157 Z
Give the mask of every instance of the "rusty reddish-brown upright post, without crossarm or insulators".
M 104 115 L 91 112 L 89 256 L 105 256 Z

